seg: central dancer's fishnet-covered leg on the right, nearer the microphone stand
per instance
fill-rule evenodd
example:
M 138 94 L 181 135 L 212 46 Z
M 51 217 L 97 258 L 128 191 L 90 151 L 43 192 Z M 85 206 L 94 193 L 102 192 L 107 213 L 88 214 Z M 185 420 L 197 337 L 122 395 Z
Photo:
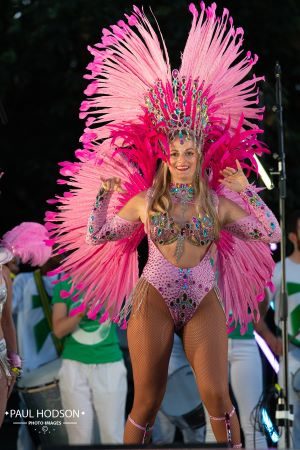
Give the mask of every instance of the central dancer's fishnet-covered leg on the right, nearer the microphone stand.
M 230 422 L 233 445 L 240 444 L 240 427 L 233 412 L 228 389 L 228 338 L 223 309 L 214 291 L 200 303 L 195 315 L 183 329 L 183 344 L 196 375 L 200 395 L 210 416 L 218 442 L 226 442 L 225 415 Z M 231 414 L 230 414 L 231 413 Z M 218 419 L 218 420 L 216 420 Z

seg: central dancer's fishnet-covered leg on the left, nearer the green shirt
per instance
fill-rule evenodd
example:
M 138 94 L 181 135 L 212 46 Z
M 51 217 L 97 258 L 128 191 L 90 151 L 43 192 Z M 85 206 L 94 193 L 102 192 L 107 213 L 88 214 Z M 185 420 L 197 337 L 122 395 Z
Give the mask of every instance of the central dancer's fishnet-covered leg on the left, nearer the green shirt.
M 174 334 L 173 320 L 158 291 L 149 284 L 143 299 L 138 291 L 127 332 L 134 401 L 125 427 L 125 444 L 142 443 L 144 437 L 149 440 L 150 433 L 139 427 L 154 424 L 166 388 Z

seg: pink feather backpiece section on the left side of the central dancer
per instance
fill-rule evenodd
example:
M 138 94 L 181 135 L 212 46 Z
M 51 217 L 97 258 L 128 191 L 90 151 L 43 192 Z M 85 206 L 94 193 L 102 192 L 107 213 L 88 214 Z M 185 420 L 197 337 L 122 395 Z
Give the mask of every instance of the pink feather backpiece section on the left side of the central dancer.
M 56 197 L 60 206 L 57 212 L 46 213 L 46 227 L 57 244 L 56 252 L 68 254 L 61 267 L 51 274 L 64 272 L 64 277 L 71 276 L 70 295 L 75 289 L 78 295 L 83 295 L 84 302 L 72 314 L 88 305 L 90 318 L 95 318 L 104 308 L 107 312 L 104 317 L 118 322 L 123 302 L 129 299 L 138 279 L 136 250 L 145 235 L 144 227 L 141 224 L 127 239 L 91 247 L 85 242 L 88 217 L 101 177 L 119 177 L 126 189 L 124 194 L 112 195 L 108 218 L 130 198 L 148 189 L 157 159 L 167 157 L 159 142 L 167 146 L 167 141 L 164 135 L 153 132 L 150 122 L 115 126 L 111 135 L 112 141 L 106 140 L 100 147 L 101 159 L 96 152 L 78 151 L 79 162 L 64 163 L 61 172 L 69 177 L 70 190 Z M 123 147 L 116 147 L 116 142 L 122 142 Z

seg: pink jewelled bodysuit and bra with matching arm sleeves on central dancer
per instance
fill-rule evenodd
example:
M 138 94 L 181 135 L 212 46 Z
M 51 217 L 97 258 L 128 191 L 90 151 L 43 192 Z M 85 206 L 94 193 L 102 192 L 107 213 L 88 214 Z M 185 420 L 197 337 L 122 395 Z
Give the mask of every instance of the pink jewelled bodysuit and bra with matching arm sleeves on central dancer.
M 87 242 L 97 245 L 107 240 L 124 239 L 139 226 L 118 215 L 105 222 L 110 193 L 103 190 L 97 196 L 87 227 Z M 276 240 L 278 223 L 255 189 L 248 187 L 240 193 L 251 215 L 226 226 L 226 230 L 241 239 L 259 239 L 264 242 Z M 180 268 L 169 262 L 157 245 L 168 245 L 181 238 L 194 245 L 208 245 L 199 264 Z M 180 227 L 168 214 L 152 216 L 148 232 L 149 256 L 141 279 L 150 283 L 166 302 L 176 329 L 184 326 L 193 316 L 205 295 L 217 289 L 215 261 L 211 252 L 214 241 L 213 223 L 210 217 L 193 218 L 191 223 Z

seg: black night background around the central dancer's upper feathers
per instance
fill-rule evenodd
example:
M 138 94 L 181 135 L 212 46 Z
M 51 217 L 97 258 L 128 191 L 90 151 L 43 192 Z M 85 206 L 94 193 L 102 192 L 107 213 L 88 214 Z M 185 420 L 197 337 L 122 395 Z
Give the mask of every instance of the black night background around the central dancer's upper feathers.
M 184 0 L 136 0 L 155 13 L 173 67 L 178 67 L 191 22 Z M 256 74 L 265 74 L 265 135 L 277 148 L 274 66 L 282 66 L 286 131 L 288 212 L 300 207 L 300 2 L 299 0 L 220 0 L 236 26 L 245 30 L 244 47 L 260 56 Z M 57 162 L 72 159 L 84 123 L 79 105 L 90 61 L 86 47 L 100 40 L 101 28 L 130 12 L 124 0 L 1 0 L 0 14 L 0 235 L 21 221 L 42 221 L 46 199 L 60 192 Z M 271 157 L 268 169 L 277 168 Z M 275 179 L 277 183 L 277 180 Z M 264 194 L 278 213 L 277 189 Z

